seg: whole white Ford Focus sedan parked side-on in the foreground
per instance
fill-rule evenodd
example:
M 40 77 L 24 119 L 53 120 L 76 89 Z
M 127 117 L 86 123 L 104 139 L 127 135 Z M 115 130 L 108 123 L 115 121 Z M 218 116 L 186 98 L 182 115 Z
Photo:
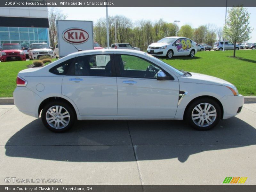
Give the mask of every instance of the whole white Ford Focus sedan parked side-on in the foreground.
M 240 113 L 244 97 L 222 79 L 180 71 L 133 50 L 72 53 L 19 72 L 14 103 L 53 132 L 75 120 L 182 120 L 209 130 Z M 170 127 L 172 125 L 170 124 Z

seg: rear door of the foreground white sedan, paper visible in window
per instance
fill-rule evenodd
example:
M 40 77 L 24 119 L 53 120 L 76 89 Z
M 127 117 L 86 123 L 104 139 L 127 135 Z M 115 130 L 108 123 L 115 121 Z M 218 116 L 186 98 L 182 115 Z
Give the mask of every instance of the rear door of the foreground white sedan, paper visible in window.
M 62 94 L 81 116 L 116 116 L 117 86 L 112 54 L 77 57 L 62 80 Z

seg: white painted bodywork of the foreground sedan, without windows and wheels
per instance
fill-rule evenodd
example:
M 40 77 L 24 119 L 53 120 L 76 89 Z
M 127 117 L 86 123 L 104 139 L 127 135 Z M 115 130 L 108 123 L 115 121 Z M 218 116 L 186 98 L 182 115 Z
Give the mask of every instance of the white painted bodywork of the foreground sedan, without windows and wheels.
M 125 77 L 93 77 L 55 75 L 49 69 L 61 62 L 87 54 L 130 54 L 154 62 L 174 77 L 174 80 Z M 67 100 L 75 109 L 78 120 L 154 120 L 183 119 L 188 103 L 200 96 L 211 96 L 223 106 L 223 119 L 237 115 L 243 106 L 243 96 L 234 96 L 226 87 L 232 84 L 222 79 L 203 74 L 180 76 L 171 66 L 138 51 L 88 50 L 72 53 L 43 68 L 30 68 L 18 74 L 25 79 L 26 87 L 17 87 L 13 93 L 14 103 L 24 114 L 38 117 L 40 104 L 50 97 Z M 70 78 L 83 78 L 76 83 Z M 133 80 L 137 84 L 123 84 Z M 70 83 L 71 82 L 71 83 Z M 179 91 L 188 92 L 180 101 Z

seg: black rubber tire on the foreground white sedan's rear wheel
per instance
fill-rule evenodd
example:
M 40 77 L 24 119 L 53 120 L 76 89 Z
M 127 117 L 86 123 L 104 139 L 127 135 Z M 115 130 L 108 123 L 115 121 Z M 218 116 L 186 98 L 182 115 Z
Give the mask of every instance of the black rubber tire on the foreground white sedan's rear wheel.
M 61 106 L 62 108 L 64 108 L 65 110 L 68 111 L 69 113 L 69 122 L 66 126 L 64 126 L 63 124 L 63 128 L 60 128 L 60 129 L 56 129 L 54 127 L 52 127 L 50 124 L 47 123 L 47 120 L 46 120 L 46 113 L 48 111 L 48 109 L 54 107 L 54 106 Z M 62 110 L 64 110 L 62 109 Z M 53 114 L 54 115 L 54 114 Z M 53 116 L 52 115 L 52 116 Z M 57 117 L 58 117 L 58 114 L 56 114 Z M 66 132 L 68 131 L 69 129 L 71 129 L 75 123 L 75 120 L 76 120 L 76 113 L 74 111 L 74 109 L 66 102 L 63 102 L 63 101 L 60 101 L 60 100 L 55 100 L 55 101 L 51 101 L 49 104 L 45 105 L 43 110 L 42 110 L 42 121 L 43 121 L 43 124 L 44 126 L 49 129 L 50 131 L 52 132 L 58 132 L 58 133 L 61 133 L 61 132 Z M 55 115 L 54 115 L 55 116 Z M 53 118 L 57 118 L 57 117 L 54 117 Z M 60 116 L 61 117 L 61 116 Z M 65 121 L 68 121 L 68 117 L 63 117 L 63 119 L 65 118 Z M 59 121 L 59 119 L 55 119 L 53 120 L 54 122 Z M 61 123 L 60 123 L 61 124 Z

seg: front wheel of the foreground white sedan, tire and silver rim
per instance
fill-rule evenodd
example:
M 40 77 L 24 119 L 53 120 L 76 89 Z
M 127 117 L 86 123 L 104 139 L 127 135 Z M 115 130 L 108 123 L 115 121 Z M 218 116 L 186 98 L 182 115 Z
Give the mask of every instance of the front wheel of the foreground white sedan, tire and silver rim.
M 213 99 L 201 98 L 192 102 L 186 111 L 186 120 L 196 130 L 205 131 L 220 121 L 220 105 Z

